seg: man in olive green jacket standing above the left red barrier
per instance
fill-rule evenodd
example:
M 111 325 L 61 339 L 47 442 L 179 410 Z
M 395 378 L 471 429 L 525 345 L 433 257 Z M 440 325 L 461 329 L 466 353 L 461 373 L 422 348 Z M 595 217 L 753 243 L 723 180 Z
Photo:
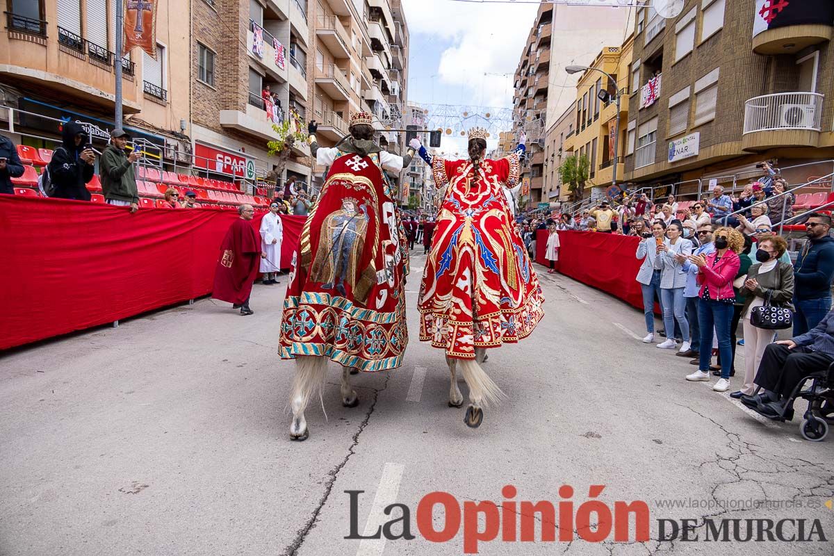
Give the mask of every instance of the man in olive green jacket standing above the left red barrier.
M 128 139 L 130 136 L 122 128 L 113 129 L 110 144 L 102 153 L 99 168 L 105 202 L 118 207 L 130 207 L 130 212 L 135 213 L 139 208 L 139 192 L 133 163 L 138 160 L 139 153 L 134 148 L 130 154 L 125 154 Z

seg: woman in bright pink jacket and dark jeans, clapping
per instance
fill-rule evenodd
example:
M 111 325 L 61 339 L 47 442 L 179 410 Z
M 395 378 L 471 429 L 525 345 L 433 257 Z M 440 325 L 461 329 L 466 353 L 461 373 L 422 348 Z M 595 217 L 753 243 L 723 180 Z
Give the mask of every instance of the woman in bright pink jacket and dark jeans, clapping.
M 690 255 L 691 263 L 698 267 L 698 283 L 701 284 L 701 300 L 698 303 L 698 324 L 701 327 L 701 363 L 699 370 L 686 376 L 686 380 L 710 379 L 712 329 L 718 336 L 718 353 L 721 354 L 721 378 L 712 386 L 716 392 L 730 388 L 732 368 L 731 322 L 736 294 L 732 283 L 736 279 L 741 260 L 738 253 L 744 248 L 744 236 L 733 228 L 718 228 L 713 235 L 716 251 L 710 255 Z

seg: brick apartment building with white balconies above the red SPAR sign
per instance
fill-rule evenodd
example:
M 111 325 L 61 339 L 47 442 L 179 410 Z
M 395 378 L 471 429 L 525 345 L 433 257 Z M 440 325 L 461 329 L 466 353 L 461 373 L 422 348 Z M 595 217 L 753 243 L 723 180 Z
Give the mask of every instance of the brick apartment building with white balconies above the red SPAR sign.
M 273 124 L 306 125 L 308 6 L 305 0 L 193 0 L 191 7 L 194 165 L 263 177 L 272 167 L 267 143 L 280 137 Z M 267 86 L 277 102 L 264 99 Z M 309 154 L 306 143 L 295 143 L 280 178 L 309 183 Z

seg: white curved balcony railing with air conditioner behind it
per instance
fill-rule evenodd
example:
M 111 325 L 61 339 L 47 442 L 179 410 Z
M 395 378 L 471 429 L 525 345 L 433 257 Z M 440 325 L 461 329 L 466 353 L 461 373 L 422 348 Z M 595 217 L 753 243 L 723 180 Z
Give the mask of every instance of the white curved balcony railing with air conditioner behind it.
M 820 93 L 776 93 L 744 103 L 744 133 L 800 129 L 821 131 Z

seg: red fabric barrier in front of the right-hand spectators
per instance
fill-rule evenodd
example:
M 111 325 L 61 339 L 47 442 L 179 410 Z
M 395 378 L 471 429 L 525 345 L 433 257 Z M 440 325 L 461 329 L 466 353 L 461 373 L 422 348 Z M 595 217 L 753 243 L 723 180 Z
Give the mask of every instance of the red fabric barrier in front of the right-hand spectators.
M 547 230 L 536 233 L 535 262 L 545 259 Z M 643 308 L 643 294 L 637 283 L 641 261 L 635 257 L 638 238 L 613 233 L 560 232 L 557 270 L 594 288 Z

